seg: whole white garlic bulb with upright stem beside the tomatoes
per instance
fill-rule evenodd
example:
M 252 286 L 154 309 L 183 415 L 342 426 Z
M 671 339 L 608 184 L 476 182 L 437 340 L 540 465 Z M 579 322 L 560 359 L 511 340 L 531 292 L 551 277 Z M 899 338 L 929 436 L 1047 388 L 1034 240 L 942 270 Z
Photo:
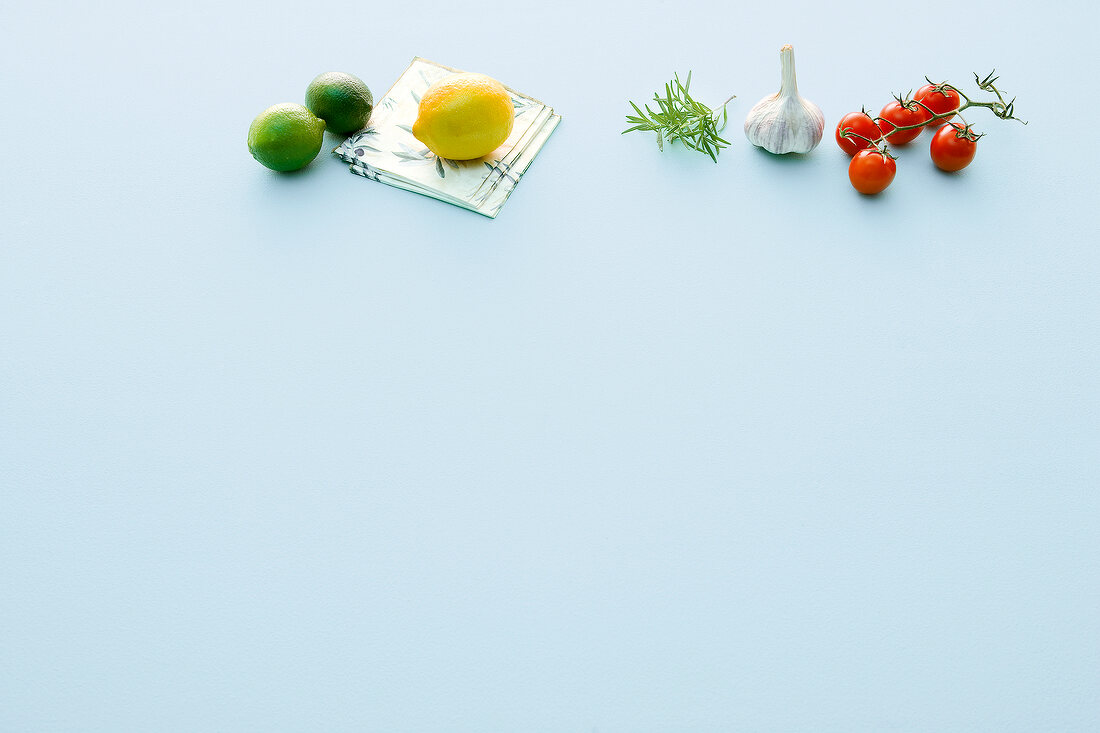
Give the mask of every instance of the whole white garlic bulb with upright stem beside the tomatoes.
M 825 116 L 817 105 L 799 96 L 791 44 L 779 50 L 779 58 L 783 65 L 779 94 L 765 97 L 749 110 L 745 134 L 769 153 L 809 153 L 822 141 Z

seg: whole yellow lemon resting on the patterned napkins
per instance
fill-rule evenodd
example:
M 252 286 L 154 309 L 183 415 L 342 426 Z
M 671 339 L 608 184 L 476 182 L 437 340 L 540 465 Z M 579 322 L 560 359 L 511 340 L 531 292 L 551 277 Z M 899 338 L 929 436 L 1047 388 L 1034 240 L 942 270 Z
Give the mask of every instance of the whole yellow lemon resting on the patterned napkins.
M 440 157 L 488 155 L 512 134 L 515 110 L 504 86 L 484 74 L 454 74 L 428 87 L 413 135 Z

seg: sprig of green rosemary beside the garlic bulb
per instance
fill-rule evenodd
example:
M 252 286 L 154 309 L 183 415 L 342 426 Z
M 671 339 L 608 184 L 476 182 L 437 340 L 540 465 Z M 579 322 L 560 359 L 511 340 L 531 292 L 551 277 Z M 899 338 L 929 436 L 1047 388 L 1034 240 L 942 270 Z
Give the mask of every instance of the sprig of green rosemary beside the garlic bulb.
M 626 116 L 626 121 L 634 127 L 624 130 L 623 134 L 637 130 L 656 132 L 659 150 L 664 150 L 666 140 L 669 142 L 679 140 L 692 150 L 706 153 L 717 163 L 718 153 L 729 145 L 729 141 L 723 140 L 721 133 L 727 121 L 726 105 L 733 97 L 722 103 L 719 112 L 715 112 L 706 105 L 692 99 L 690 87 L 691 72 L 688 72 L 688 79 L 682 84 L 680 75 L 674 74 L 673 79 L 664 85 L 663 97 L 659 92 L 653 94 L 657 111 L 651 110 L 649 105 L 646 105 L 642 111 L 630 102 L 630 107 L 638 114 Z

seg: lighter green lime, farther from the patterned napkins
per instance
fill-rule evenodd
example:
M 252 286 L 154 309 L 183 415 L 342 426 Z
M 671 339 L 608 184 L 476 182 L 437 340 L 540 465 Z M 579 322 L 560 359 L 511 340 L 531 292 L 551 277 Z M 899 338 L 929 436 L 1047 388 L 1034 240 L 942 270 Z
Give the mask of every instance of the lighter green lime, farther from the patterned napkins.
M 309 165 L 324 142 L 324 120 L 293 102 L 268 107 L 252 120 L 249 152 L 272 171 Z

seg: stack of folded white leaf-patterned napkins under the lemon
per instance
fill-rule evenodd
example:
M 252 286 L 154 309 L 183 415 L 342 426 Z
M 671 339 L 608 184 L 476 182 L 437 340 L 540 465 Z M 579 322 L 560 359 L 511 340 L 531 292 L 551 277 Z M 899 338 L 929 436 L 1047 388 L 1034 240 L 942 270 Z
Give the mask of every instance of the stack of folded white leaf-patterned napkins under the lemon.
M 455 73 L 417 56 L 374 107 L 367 128 L 332 153 L 346 161 L 352 173 L 371 180 L 495 218 L 561 116 L 538 99 L 505 87 L 516 108 L 508 139 L 474 161 L 439 157 L 413 136 L 413 122 L 428 87 Z

